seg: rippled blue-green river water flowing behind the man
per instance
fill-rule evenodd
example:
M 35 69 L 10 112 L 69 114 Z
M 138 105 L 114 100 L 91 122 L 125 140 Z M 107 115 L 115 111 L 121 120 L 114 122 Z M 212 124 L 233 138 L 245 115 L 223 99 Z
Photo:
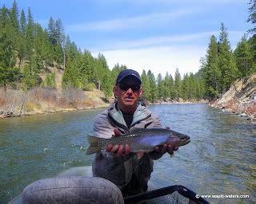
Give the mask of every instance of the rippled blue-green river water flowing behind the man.
M 162 126 L 190 135 L 174 156 L 154 163 L 159 187 L 186 186 L 198 194 L 249 195 L 209 198 L 210 202 L 256 202 L 256 125 L 206 104 L 150 106 Z M 101 109 L 0 120 L 0 203 L 38 179 L 70 167 L 90 166 L 86 135 Z

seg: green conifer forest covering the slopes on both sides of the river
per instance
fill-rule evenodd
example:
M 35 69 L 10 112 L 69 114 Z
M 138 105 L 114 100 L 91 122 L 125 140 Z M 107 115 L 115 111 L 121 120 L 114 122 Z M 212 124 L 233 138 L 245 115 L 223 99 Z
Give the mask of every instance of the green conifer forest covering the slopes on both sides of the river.
M 256 22 L 255 8 L 256 3 L 251 1 L 248 22 L 253 26 Z M 127 69 L 126 65 L 117 64 L 114 68 L 109 68 L 102 53 L 94 57 L 89 50 L 79 49 L 64 30 L 60 18 L 54 20 L 50 17 L 47 28 L 42 28 L 38 22 L 34 22 L 30 9 L 19 10 L 15 1 L 11 8 L 2 6 L 0 106 L 10 103 L 8 96 L 11 96 L 8 92 L 27 94 L 34 89 L 47 92 L 42 94 L 41 99 L 44 99 L 45 95 L 48 99 L 53 96 L 55 100 L 65 100 L 63 103 L 69 106 L 81 100 L 81 92 L 95 88 L 104 92 L 105 100 L 112 96 L 114 80 L 121 70 Z M 176 68 L 174 76 L 166 73 L 166 76 L 158 74 L 155 77 L 150 69 L 147 72 L 143 70 L 143 97 L 151 103 L 158 100 L 214 100 L 230 88 L 235 80 L 249 77 L 251 73 L 256 72 L 255 52 L 255 26 L 250 29 L 249 34 L 245 33 L 241 37 L 237 47 L 232 50 L 227 29 L 222 23 L 219 37 L 210 37 L 207 53 L 202 57 L 202 67 L 198 73 L 186 73 L 181 76 Z M 58 77 L 57 81 L 56 76 L 59 73 L 62 73 L 62 77 L 61 80 Z M 58 92 L 58 95 L 53 92 Z M 75 98 L 74 92 L 79 92 L 78 98 Z

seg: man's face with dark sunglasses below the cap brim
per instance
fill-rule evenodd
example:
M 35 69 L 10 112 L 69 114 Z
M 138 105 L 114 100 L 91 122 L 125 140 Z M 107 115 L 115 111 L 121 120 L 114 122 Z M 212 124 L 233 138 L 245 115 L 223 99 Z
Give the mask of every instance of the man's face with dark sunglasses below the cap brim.
M 142 88 L 135 77 L 126 77 L 121 84 L 113 88 L 114 95 L 118 98 L 118 106 L 124 112 L 134 112 L 138 99 L 142 96 Z

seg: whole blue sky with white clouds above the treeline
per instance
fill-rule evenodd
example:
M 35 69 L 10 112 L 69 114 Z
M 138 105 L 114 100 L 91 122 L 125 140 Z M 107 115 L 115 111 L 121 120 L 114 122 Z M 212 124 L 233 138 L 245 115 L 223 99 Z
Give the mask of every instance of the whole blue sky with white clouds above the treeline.
M 1 0 L 10 8 L 13 1 Z M 34 22 L 46 28 L 62 19 L 65 33 L 78 48 L 103 53 L 110 69 L 126 65 L 165 76 L 196 73 L 210 36 L 219 36 L 223 22 L 234 49 L 252 26 L 246 0 L 16 0 L 18 10 L 30 7 Z

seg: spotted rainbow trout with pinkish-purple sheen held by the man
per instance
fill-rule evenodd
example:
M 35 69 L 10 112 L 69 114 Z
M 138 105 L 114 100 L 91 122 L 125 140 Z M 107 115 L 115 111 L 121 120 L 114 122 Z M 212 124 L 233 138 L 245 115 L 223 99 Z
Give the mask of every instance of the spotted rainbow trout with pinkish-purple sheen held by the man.
M 89 136 L 88 140 L 90 147 L 87 148 L 87 155 L 105 149 L 108 144 L 129 144 L 131 152 L 149 152 L 154 151 L 154 147 L 165 143 L 171 143 L 176 147 L 190 143 L 190 137 L 188 135 L 164 128 L 136 128 L 130 134 L 120 135 L 110 139 Z

